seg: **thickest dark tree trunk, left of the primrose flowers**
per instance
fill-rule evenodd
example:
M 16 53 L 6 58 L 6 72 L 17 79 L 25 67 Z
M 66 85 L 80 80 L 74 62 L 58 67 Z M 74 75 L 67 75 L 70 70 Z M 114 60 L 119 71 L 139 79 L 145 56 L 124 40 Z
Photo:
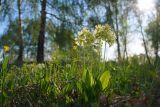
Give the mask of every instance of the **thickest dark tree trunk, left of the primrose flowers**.
M 38 37 L 37 62 L 44 62 L 44 39 L 45 39 L 45 25 L 46 25 L 46 3 L 47 0 L 41 1 L 41 24 Z

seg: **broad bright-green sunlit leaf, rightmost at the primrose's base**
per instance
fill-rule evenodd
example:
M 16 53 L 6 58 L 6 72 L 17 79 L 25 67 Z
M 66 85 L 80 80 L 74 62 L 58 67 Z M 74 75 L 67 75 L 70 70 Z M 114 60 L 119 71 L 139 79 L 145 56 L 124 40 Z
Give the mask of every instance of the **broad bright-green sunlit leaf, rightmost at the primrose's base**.
M 106 89 L 109 83 L 111 76 L 109 71 L 104 72 L 100 77 L 100 82 L 102 84 L 102 90 Z

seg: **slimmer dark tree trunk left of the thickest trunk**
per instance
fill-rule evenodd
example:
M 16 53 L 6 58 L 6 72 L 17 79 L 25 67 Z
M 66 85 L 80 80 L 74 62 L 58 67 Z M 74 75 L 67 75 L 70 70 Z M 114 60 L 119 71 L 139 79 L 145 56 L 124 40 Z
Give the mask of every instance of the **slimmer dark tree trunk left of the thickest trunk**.
M 21 19 L 21 0 L 17 1 L 18 4 L 18 28 L 19 28 L 19 53 L 17 58 L 18 64 L 23 64 L 23 38 L 22 38 L 22 19 Z

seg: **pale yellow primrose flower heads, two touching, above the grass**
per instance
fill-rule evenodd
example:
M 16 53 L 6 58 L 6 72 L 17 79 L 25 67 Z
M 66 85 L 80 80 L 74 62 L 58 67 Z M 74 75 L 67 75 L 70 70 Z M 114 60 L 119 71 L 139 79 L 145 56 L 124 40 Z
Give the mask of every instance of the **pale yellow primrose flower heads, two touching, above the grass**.
M 90 32 L 87 28 L 83 28 L 82 31 L 78 33 L 76 38 L 76 45 L 78 46 L 90 46 L 96 41 L 105 41 L 112 46 L 115 42 L 115 34 L 111 27 L 106 25 L 97 25 L 93 32 Z

